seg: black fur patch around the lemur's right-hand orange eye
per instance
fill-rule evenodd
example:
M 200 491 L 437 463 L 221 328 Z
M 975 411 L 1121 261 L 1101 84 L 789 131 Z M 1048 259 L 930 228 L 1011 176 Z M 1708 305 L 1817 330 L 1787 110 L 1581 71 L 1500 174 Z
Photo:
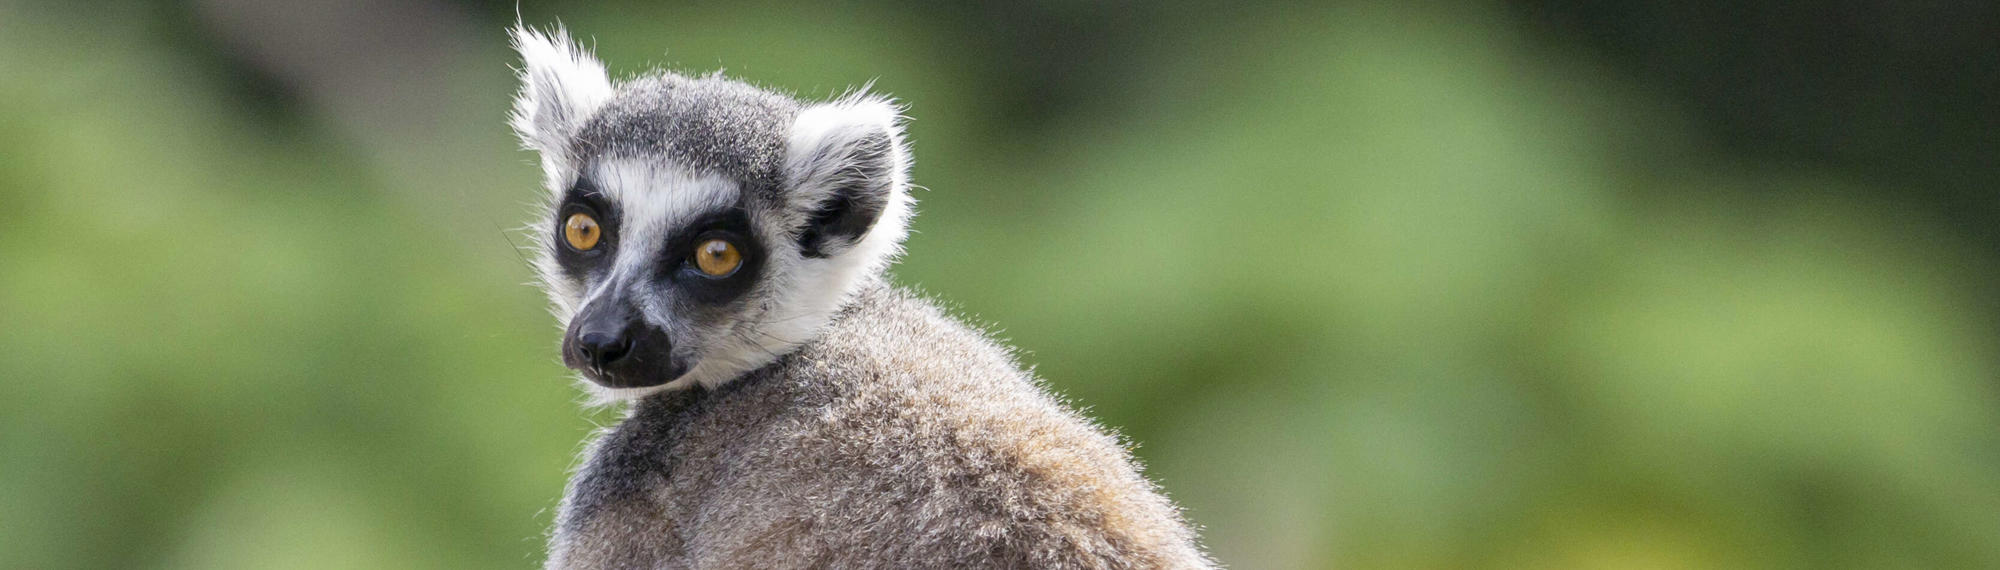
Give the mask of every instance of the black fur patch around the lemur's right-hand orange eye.
M 694 266 L 694 248 L 708 240 L 726 240 L 742 252 L 742 266 L 728 276 L 708 276 Z M 728 304 L 750 292 L 764 274 L 764 244 L 750 232 L 750 214 L 742 208 L 716 210 L 682 224 L 660 248 L 660 278 L 672 282 L 688 300 Z

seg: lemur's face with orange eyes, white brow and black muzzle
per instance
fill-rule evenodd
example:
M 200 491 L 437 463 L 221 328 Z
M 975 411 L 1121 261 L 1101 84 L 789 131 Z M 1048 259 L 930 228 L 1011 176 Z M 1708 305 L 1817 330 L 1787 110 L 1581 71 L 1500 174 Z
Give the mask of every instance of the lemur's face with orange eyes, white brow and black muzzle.
M 770 248 L 740 186 L 634 158 L 580 168 L 548 220 L 558 278 L 582 292 L 562 362 L 606 388 L 648 388 L 714 346 L 768 334 L 758 320 L 772 312 L 750 294 Z

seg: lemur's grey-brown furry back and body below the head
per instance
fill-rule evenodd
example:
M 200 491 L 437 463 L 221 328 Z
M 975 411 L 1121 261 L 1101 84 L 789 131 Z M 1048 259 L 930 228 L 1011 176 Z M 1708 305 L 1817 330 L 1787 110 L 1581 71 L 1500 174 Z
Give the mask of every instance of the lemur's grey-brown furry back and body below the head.
M 1008 352 L 874 284 L 718 390 L 640 400 L 548 568 L 1204 568 L 1120 442 Z

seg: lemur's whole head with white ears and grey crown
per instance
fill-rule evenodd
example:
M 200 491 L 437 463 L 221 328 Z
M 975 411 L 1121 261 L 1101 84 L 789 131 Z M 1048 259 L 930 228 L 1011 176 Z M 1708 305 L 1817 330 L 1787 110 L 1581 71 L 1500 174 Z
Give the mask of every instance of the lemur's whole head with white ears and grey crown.
M 898 108 L 720 74 L 614 84 L 558 28 L 514 28 L 512 124 L 552 202 L 536 268 L 562 362 L 600 400 L 714 388 L 796 350 L 898 254 Z

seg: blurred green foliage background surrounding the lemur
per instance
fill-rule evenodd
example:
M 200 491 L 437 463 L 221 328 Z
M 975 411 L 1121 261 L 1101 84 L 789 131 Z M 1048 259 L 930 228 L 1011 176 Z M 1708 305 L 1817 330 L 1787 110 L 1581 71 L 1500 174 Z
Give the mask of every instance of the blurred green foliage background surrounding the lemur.
M 524 2 L 910 104 L 896 280 L 1238 568 L 2000 568 L 1992 2 Z M 0 0 L 0 568 L 536 568 L 514 2 Z

